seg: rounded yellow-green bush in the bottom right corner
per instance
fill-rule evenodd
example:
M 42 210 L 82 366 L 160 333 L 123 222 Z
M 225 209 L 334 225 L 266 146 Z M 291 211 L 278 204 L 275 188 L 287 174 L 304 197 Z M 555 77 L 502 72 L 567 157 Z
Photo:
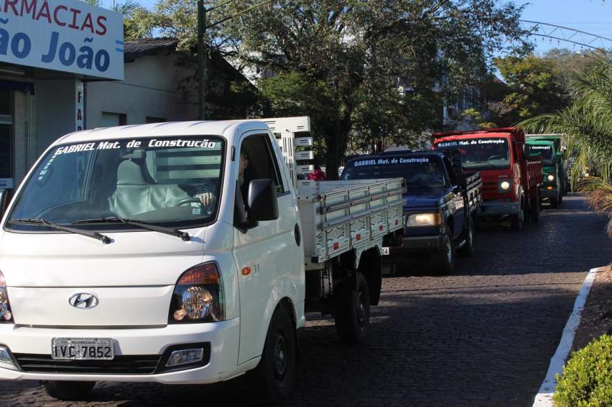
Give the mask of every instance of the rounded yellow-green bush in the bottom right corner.
M 612 336 L 572 353 L 556 379 L 556 407 L 612 407 Z

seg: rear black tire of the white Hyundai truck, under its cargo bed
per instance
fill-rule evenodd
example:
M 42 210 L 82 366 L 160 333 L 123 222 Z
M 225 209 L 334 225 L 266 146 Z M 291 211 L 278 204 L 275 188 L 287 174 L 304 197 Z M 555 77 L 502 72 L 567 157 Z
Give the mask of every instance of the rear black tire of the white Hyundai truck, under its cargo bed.
M 365 276 L 357 272 L 357 290 L 349 285 L 339 287 L 334 313 L 336 332 L 340 342 L 361 342 L 370 324 L 370 291 Z

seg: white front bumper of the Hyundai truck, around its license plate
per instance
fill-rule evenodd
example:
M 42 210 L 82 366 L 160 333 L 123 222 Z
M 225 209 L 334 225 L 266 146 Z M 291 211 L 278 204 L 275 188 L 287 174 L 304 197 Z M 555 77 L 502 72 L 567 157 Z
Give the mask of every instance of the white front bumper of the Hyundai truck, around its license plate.
M 173 345 L 209 343 L 210 358 L 208 363 L 197 367 L 186 366 L 181 369 L 177 366 L 171 372 L 152 374 L 38 372 L 36 367 L 28 367 L 28 372 L 24 372 L 19 368 L 0 367 L 0 379 L 215 383 L 252 369 L 258 362 L 257 359 L 241 366 L 236 365 L 240 338 L 239 318 L 209 324 L 173 324 L 143 329 L 56 329 L 0 324 L 0 344 L 8 347 L 13 355 L 22 358 L 30 355 L 50 357 L 52 338 L 113 338 L 115 356 L 120 358 L 129 358 L 129 356 L 161 358 L 166 349 Z M 160 364 L 163 363 L 163 358 L 161 360 Z

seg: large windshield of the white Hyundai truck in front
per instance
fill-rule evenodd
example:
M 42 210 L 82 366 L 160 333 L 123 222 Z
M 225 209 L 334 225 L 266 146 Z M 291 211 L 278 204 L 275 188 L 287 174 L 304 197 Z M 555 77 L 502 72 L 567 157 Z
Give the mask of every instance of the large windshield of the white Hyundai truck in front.
M 13 229 L 40 229 L 45 226 L 10 221 L 86 224 L 82 221 L 122 217 L 174 227 L 212 222 L 220 197 L 223 150 L 223 141 L 210 136 L 59 145 L 36 167 L 8 223 Z

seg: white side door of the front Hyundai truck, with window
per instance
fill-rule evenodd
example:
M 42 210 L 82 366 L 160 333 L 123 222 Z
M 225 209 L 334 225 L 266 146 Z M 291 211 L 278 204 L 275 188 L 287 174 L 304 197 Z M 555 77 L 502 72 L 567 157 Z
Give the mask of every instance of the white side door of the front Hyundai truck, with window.
M 252 179 L 271 178 L 276 186 L 278 219 L 259 222 L 248 231 L 234 228 L 234 260 L 239 270 L 240 289 L 240 351 L 239 363 L 261 355 L 268 322 L 283 290 L 298 293 L 303 249 L 295 238 L 297 223 L 296 201 L 289 180 L 275 160 L 272 136 L 267 133 L 246 133 L 236 150 L 248 154 L 248 166 L 243 173 L 243 185 Z M 248 191 L 248 186 L 240 188 Z M 239 198 L 236 198 L 239 199 Z M 246 197 L 243 197 L 246 199 Z M 248 208 L 246 208 L 248 212 Z M 301 298 L 293 298 L 300 301 Z

